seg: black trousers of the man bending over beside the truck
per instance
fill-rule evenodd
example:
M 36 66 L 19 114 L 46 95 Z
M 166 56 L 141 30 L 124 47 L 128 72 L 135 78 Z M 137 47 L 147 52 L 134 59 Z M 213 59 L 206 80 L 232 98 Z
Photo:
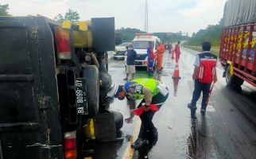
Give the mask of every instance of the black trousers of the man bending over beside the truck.
M 157 103 L 164 103 L 165 100 L 168 98 L 168 95 L 161 95 L 161 93 L 158 93 L 157 95 L 153 96 L 152 98 L 152 104 L 157 104 Z M 138 107 L 142 107 L 142 103 L 145 103 L 145 99 L 142 99 L 142 102 L 138 105 Z M 157 107 L 161 108 L 162 105 L 159 105 Z M 154 131 L 156 131 L 155 126 L 153 125 L 152 119 L 153 115 L 155 114 L 155 111 L 144 111 L 141 115 L 140 118 L 142 120 L 142 125 L 140 132 L 138 134 L 138 138 L 145 138 L 145 135 L 147 131 L 149 131 L 149 134 L 153 134 Z

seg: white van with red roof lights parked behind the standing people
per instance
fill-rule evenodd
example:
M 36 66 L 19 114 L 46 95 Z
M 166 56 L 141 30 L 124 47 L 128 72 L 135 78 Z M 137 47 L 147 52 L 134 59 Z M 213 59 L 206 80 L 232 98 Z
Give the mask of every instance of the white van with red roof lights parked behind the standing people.
M 156 52 L 157 41 L 160 39 L 153 36 L 152 33 L 137 33 L 131 44 L 134 46 L 134 50 L 137 52 L 138 57 L 135 60 L 135 66 L 146 66 L 145 61 L 147 61 L 147 48 L 149 48 L 149 42 L 153 43 L 153 52 Z

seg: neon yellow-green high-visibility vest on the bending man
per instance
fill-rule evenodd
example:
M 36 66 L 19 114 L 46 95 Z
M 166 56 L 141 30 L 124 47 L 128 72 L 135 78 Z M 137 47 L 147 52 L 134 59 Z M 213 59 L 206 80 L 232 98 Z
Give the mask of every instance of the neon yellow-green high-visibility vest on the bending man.
M 137 100 L 144 99 L 143 87 L 148 87 L 151 90 L 152 96 L 157 95 L 160 92 L 157 88 L 159 83 L 161 82 L 153 79 L 136 79 L 126 83 L 124 87 L 127 95 L 131 99 Z

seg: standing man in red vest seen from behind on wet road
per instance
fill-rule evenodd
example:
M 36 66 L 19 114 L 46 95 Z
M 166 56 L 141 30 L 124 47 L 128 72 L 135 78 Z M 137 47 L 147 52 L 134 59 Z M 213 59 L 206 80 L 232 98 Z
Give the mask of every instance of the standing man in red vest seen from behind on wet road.
M 193 91 L 192 101 L 188 103 L 188 108 L 191 109 L 191 118 L 196 118 L 196 102 L 200 98 L 201 91 L 203 91 L 201 113 L 205 114 L 211 83 L 217 81 L 217 56 L 213 55 L 210 49 L 211 43 L 205 41 L 202 44 L 203 52 L 197 54 L 194 63 L 195 68 L 192 78 L 195 82 L 195 89 Z

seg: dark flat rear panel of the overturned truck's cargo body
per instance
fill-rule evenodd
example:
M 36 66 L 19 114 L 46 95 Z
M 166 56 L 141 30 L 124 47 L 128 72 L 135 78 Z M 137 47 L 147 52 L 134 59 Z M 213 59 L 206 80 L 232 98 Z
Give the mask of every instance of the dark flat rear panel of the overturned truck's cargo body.
M 0 159 L 63 158 L 52 33 L 0 17 Z

